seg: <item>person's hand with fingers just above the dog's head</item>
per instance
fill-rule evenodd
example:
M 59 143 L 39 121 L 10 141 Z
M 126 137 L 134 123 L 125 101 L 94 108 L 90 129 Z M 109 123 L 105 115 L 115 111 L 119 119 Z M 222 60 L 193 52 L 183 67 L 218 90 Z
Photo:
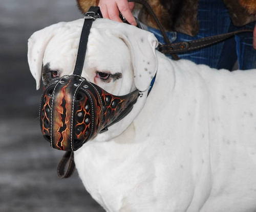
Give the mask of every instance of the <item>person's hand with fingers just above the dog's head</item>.
M 132 14 L 134 2 L 128 2 L 127 0 L 100 0 L 98 6 L 100 7 L 103 18 L 122 22 L 119 17 L 120 11 L 123 17 L 131 23 L 131 25 L 137 25 Z

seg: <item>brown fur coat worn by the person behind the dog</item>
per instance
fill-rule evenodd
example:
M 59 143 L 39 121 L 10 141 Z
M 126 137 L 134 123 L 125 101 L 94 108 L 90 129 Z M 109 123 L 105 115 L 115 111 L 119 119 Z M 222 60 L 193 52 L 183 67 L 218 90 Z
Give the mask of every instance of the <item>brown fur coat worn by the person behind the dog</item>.
M 78 8 L 84 13 L 90 6 L 98 4 L 98 0 L 76 0 Z M 256 0 L 223 0 L 230 17 L 236 26 L 243 26 L 256 20 Z M 162 22 L 165 30 L 177 31 L 194 36 L 198 33 L 197 21 L 198 0 L 147 0 Z M 139 19 L 148 26 L 155 27 L 154 20 L 141 10 Z

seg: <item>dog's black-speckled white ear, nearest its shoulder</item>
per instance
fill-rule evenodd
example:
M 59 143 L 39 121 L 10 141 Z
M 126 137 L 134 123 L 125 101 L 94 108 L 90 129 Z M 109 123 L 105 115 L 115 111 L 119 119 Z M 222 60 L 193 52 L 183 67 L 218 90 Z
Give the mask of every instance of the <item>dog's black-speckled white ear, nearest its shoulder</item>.
M 153 33 L 134 26 L 127 25 L 127 27 L 122 27 L 120 31 L 122 33 L 119 34 L 119 37 L 130 50 L 135 86 L 140 91 L 145 91 L 150 87 L 157 72 L 156 47 L 158 40 Z

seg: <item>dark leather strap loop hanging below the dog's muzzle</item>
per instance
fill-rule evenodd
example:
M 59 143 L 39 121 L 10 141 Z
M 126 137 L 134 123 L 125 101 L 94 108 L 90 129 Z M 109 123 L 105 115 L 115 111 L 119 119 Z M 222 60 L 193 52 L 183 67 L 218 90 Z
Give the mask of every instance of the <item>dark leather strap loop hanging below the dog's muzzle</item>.
M 61 179 L 68 178 L 73 174 L 74 169 L 75 169 L 74 152 L 66 152 L 62 156 L 57 167 L 58 177 Z

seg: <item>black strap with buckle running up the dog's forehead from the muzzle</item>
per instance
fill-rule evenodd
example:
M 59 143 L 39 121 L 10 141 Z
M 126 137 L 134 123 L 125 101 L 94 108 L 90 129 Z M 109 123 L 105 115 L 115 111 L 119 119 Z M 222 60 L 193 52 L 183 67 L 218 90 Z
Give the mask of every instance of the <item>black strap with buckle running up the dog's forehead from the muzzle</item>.
M 76 58 L 76 65 L 73 73 L 74 75 L 81 76 L 82 74 L 83 62 L 84 58 L 86 57 L 88 37 L 90 34 L 92 23 L 96 18 L 102 18 L 99 7 L 90 7 L 88 12 L 84 15 L 84 22 Z

